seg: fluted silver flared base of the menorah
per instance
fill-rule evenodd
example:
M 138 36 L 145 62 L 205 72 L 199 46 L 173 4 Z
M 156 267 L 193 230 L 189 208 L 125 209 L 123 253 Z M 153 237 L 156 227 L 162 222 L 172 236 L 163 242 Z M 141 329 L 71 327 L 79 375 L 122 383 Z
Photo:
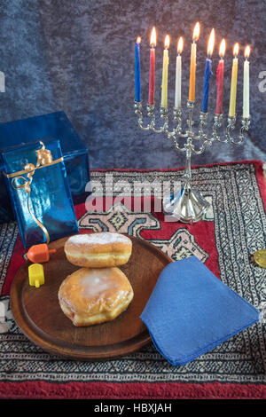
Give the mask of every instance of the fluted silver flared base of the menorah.
M 192 189 L 186 182 L 180 193 L 171 195 L 163 200 L 163 209 L 166 215 L 174 216 L 182 223 L 195 223 L 205 215 L 209 203 L 199 191 Z

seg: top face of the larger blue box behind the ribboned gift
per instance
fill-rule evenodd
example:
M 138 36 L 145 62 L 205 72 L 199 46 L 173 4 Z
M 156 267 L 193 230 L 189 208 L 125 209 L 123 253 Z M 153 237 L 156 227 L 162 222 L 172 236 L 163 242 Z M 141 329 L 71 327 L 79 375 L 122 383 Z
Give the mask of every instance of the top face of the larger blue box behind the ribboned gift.
M 65 161 L 74 154 L 88 153 L 63 111 L 0 124 L 0 153 L 44 138 L 64 139 L 60 143 Z

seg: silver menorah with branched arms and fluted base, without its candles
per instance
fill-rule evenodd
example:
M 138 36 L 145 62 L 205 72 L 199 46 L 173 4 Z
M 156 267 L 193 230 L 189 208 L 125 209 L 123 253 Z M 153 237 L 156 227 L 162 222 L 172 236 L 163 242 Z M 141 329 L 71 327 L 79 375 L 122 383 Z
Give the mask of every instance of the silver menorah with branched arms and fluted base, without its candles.
M 239 145 L 243 142 L 245 132 L 248 130 L 250 124 L 250 117 L 242 117 L 239 135 L 235 138 L 237 117 L 228 116 L 225 135 L 222 138 L 220 136 L 220 130 L 223 129 L 223 114 L 215 114 L 212 135 L 207 137 L 205 130 L 207 129 L 208 113 L 200 112 L 200 122 L 198 128 L 195 128 L 193 121 L 194 106 L 194 101 L 187 101 L 189 116 L 186 130 L 182 127 L 182 108 L 174 107 L 173 119 L 177 122 L 176 129 L 169 130 L 168 107 L 160 107 L 160 118 L 164 122 L 160 127 L 157 127 L 155 106 L 147 105 L 147 116 L 150 120 L 145 126 L 143 122 L 142 102 L 135 101 L 135 114 L 138 116 L 139 128 L 141 130 L 152 130 L 155 133 L 165 133 L 168 138 L 174 141 L 177 151 L 185 153 L 184 184 L 181 187 L 181 191 L 163 200 L 165 213 L 176 217 L 183 223 L 198 222 L 205 215 L 209 207 L 209 203 L 200 194 L 199 190 L 192 187 L 192 153 L 196 155 L 203 153 L 206 147 L 211 146 L 215 140 L 223 143 L 231 143 L 232 145 Z M 178 138 L 183 139 L 183 146 L 179 145 Z M 196 144 L 200 145 L 196 146 Z

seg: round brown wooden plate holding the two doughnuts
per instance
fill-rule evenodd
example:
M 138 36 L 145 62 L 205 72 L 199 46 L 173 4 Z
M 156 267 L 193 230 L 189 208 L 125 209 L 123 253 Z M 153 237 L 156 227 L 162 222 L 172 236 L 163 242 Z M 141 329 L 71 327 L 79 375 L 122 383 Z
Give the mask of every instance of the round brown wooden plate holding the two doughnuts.
M 171 259 L 153 244 L 129 236 L 133 242 L 128 264 L 121 265 L 133 290 L 134 298 L 127 311 L 113 321 L 90 327 L 74 327 L 61 311 L 59 286 L 77 266 L 66 260 L 66 238 L 52 242 L 56 254 L 43 264 L 45 283 L 39 288 L 28 284 L 27 261 L 12 281 L 11 307 L 13 317 L 27 338 L 43 350 L 65 358 L 106 360 L 119 358 L 139 350 L 151 342 L 139 316 L 152 294 L 160 271 Z

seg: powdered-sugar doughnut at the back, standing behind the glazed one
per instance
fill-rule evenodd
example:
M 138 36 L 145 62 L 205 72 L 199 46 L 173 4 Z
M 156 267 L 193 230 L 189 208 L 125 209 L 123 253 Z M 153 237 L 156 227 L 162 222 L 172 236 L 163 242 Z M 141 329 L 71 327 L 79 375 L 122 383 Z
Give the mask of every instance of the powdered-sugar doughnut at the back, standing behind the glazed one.
M 126 264 L 132 251 L 132 241 L 123 234 L 98 232 L 77 234 L 66 240 L 67 260 L 86 268 L 106 268 Z

